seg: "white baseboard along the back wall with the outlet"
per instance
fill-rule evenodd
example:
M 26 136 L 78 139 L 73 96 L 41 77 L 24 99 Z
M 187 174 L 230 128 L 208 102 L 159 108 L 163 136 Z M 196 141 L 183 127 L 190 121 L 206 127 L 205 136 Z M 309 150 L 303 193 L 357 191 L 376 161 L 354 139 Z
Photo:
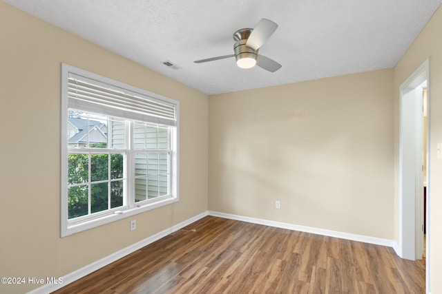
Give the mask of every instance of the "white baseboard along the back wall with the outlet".
M 388 246 L 392 247 L 394 251 L 396 251 L 397 244 L 394 242 L 394 240 L 389 239 L 383 239 L 383 238 L 376 238 L 376 237 L 370 237 L 366 235 L 356 235 L 352 233 L 344 233 L 339 231 L 331 231 L 326 229 L 318 229 L 313 227 L 305 227 L 305 226 L 299 226 L 297 224 L 287 224 L 285 222 L 275 222 L 273 220 L 262 220 L 260 218 L 249 218 L 247 216 L 236 216 L 234 214 L 229 213 L 222 213 L 217 211 L 209 211 L 209 216 L 218 216 L 220 218 L 229 218 L 231 220 L 240 220 L 242 222 L 251 222 L 253 224 L 263 224 L 265 226 L 270 227 L 277 227 L 281 229 L 289 229 L 294 231 L 301 231 L 305 233 L 314 233 L 318 235 L 326 235 L 329 237 L 334 238 L 340 238 L 345 240 L 352 240 L 357 242 L 364 242 L 369 244 L 376 244 L 381 246 Z M 396 251 L 397 254 L 397 251 Z

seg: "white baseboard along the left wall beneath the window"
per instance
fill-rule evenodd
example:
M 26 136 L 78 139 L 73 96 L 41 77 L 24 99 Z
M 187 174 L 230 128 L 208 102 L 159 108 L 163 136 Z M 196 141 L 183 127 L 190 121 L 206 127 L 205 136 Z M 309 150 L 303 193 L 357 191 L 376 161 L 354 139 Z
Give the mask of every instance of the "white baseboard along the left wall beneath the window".
M 115 262 L 119 260 L 120 258 L 124 258 L 124 256 L 129 255 L 138 249 L 143 248 L 144 246 L 147 246 L 148 244 L 151 244 L 157 240 L 160 240 L 161 238 L 166 237 L 166 235 L 169 235 L 179 229 L 182 229 L 183 227 L 186 227 L 187 225 L 196 222 L 197 220 L 200 220 L 201 218 L 204 218 L 204 216 L 207 216 L 207 211 L 198 214 L 198 216 L 194 216 L 193 218 L 189 218 L 189 220 L 184 220 L 184 222 L 180 222 L 180 224 L 175 224 L 174 226 L 170 227 L 169 229 L 165 229 L 163 231 L 160 231 L 159 233 L 156 233 L 155 235 L 151 235 L 150 237 L 141 240 L 140 242 L 137 242 L 135 244 L 132 244 L 130 246 L 127 246 L 126 248 L 119 250 L 115 253 L 112 253 L 111 255 L 106 256 L 105 258 L 102 258 L 101 260 L 97 260 L 96 262 L 93 262 L 91 264 L 88 264 L 87 266 L 82 267 L 81 269 L 77 269 L 77 271 L 73 271 L 72 273 L 68 273 L 67 275 L 64 275 L 61 277 L 63 280 L 62 284 L 46 284 L 44 286 L 41 286 L 39 288 L 36 288 L 28 294 L 46 294 L 51 293 L 55 290 L 58 290 L 59 288 L 62 288 L 72 282 L 75 282 L 76 280 L 79 280 L 81 277 L 84 277 L 90 273 L 93 273 L 94 271 L 97 271 L 98 269 L 101 269 L 102 267 L 111 264 L 112 262 Z

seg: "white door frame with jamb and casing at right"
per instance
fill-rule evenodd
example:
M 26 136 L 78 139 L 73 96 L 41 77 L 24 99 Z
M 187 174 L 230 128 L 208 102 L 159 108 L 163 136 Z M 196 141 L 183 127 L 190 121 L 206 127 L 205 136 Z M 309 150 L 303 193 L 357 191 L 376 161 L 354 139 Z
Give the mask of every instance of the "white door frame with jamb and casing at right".
M 419 116 L 422 116 L 423 112 L 418 112 L 414 102 L 410 102 L 410 99 L 416 99 L 413 96 L 414 90 L 421 86 L 421 84 L 427 82 L 427 148 L 423 150 L 423 140 L 418 142 L 420 135 L 419 132 Z M 400 114 L 399 114 L 399 249 L 401 258 L 416 260 L 419 256 L 419 252 L 423 251 L 421 242 L 423 244 L 423 230 L 421 229 L 421 222 L 423 222 L 423 199 L 418 193 L 418 189 L 422 189 L 423 193 L 423 180 L 421 188 L 419 188 L 419 180 L 421 176 L 419 158 L 423 158 L 423 152 L 427 153 L 427 248 L 426 248 L 426 279 L 427 290 L 430 288 L 430 277 L 428 275 L 430 268 L 430 61 L 425 60 L 413 74 L 405 80 L 400 86 Z M 410 104 L 411 103 L 411 104 Z M 413 113 L 414 112 L 414 113 Z M 421 114 L 419 114 L 421 113 Z M 411 118 L 411 122 L 410 122 Z M 408 119 L 408 120 L 407 120 Z M 414 129 L 412 129 L 414 127 Z M 407 132 L 405 131 L 407 128 Z M 411 146 L 410 141 L 410 129 L 412 130 L 411 136 L 415 136 L 414 146 Z M 423 127 L 421 128 L 423 135 Z M 417 137 L 416 137 L 417 136 Z M 420 146 L 422 144 L 422 146 Z M 410 156 L 411 154 L 411 156 Z M 422 156 L 422 157 L 420 157 Z M 414 161 L 413 161 L 414 160 Z M 407 190 L 407 191 L 404 191 Z M 411 192 L 410 192 L 411 191 Z M 422 204 L 420 202 L 422 201 Z M 422 231 L 422 233 L 420 233 Z M 420 259 L 420 258 L 419 258 Z

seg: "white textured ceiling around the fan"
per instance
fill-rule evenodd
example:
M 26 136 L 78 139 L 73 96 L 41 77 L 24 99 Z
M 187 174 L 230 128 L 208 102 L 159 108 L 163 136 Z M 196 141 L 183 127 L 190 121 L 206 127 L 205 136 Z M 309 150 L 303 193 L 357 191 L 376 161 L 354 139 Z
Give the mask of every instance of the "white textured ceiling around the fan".
M 394 67 L 442 0 L 3 0 L 206 94 Z M 279 27 L 260 48 L 282 64 L 241 70 L 233 32 Z M 171 61 L 179 70 L 163 65 Z

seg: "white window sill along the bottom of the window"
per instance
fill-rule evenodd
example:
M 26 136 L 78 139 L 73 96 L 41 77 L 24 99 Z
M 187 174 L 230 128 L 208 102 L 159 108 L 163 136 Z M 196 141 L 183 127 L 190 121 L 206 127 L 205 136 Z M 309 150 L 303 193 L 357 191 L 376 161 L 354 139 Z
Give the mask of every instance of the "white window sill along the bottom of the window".
M 146 204 L 140 204 L 139 206 L 136 207 L 130 207 L 124 210 L 112 211 L 110 213 L 104 214 L 103 216 L 84 220 L 82 222 L 69 223 L 68 221 L 66 221 L 64 224 L 61 224 L 61 238 L 66 237 L 68 235 L 72 235 L 74 233 L 79 233 L 81 231 L 86 231 L 88 229 L 93 229 L 95 227 L 102 226 L 103 224 L 108 224 L 110 222 L 122 220 L 123 218 L 128 218 L 129 216 L 134 216 L 138 213 L 143 213 L 145 211 L 156 209 L 158 207 L 163 207 L 165 205 L 169 205 L 177 201 L 178 201 L 177 197 L 167 196 L 164 198 L 162 197 L 156 199 L 155 201 L 149 201 Z

